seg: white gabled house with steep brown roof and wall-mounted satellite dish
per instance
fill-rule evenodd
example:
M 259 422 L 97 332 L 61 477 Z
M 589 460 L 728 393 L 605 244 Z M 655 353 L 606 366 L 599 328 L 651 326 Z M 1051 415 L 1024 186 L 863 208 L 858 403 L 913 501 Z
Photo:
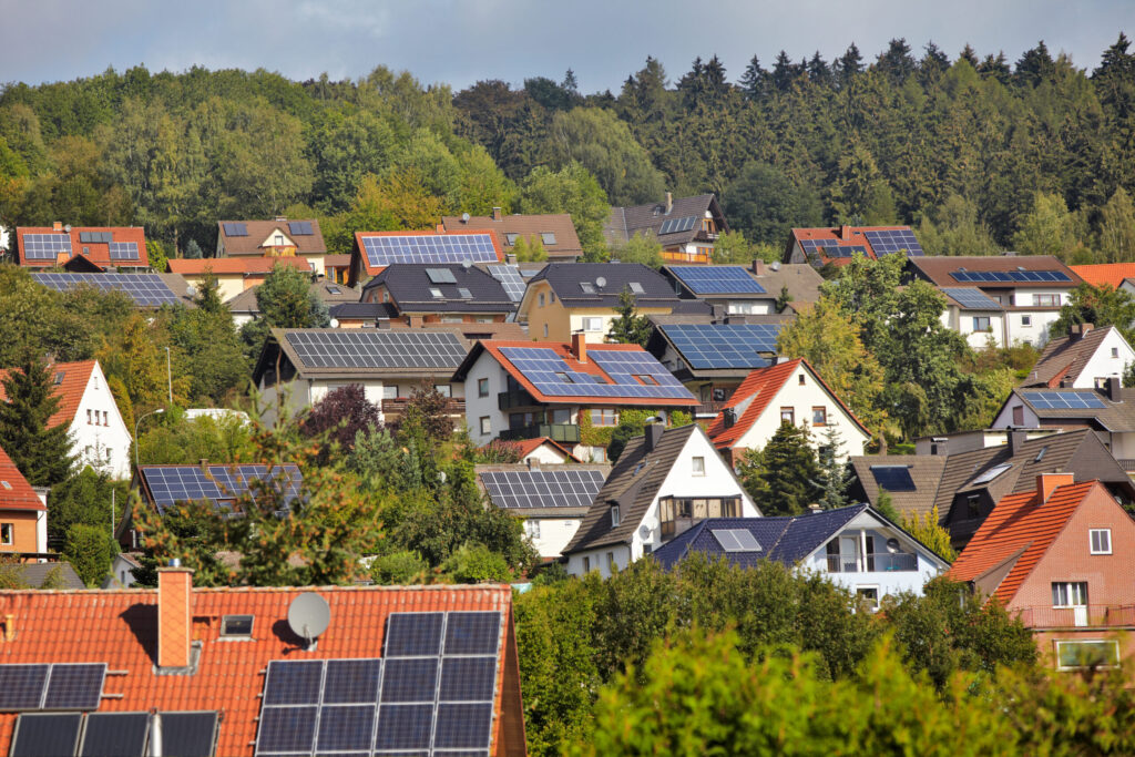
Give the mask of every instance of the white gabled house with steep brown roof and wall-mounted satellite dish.
M 572 575 L 609 578 L 707 518 L 759 515 L 700 426 L 648 424 L 627 443 L 563 554 Z

